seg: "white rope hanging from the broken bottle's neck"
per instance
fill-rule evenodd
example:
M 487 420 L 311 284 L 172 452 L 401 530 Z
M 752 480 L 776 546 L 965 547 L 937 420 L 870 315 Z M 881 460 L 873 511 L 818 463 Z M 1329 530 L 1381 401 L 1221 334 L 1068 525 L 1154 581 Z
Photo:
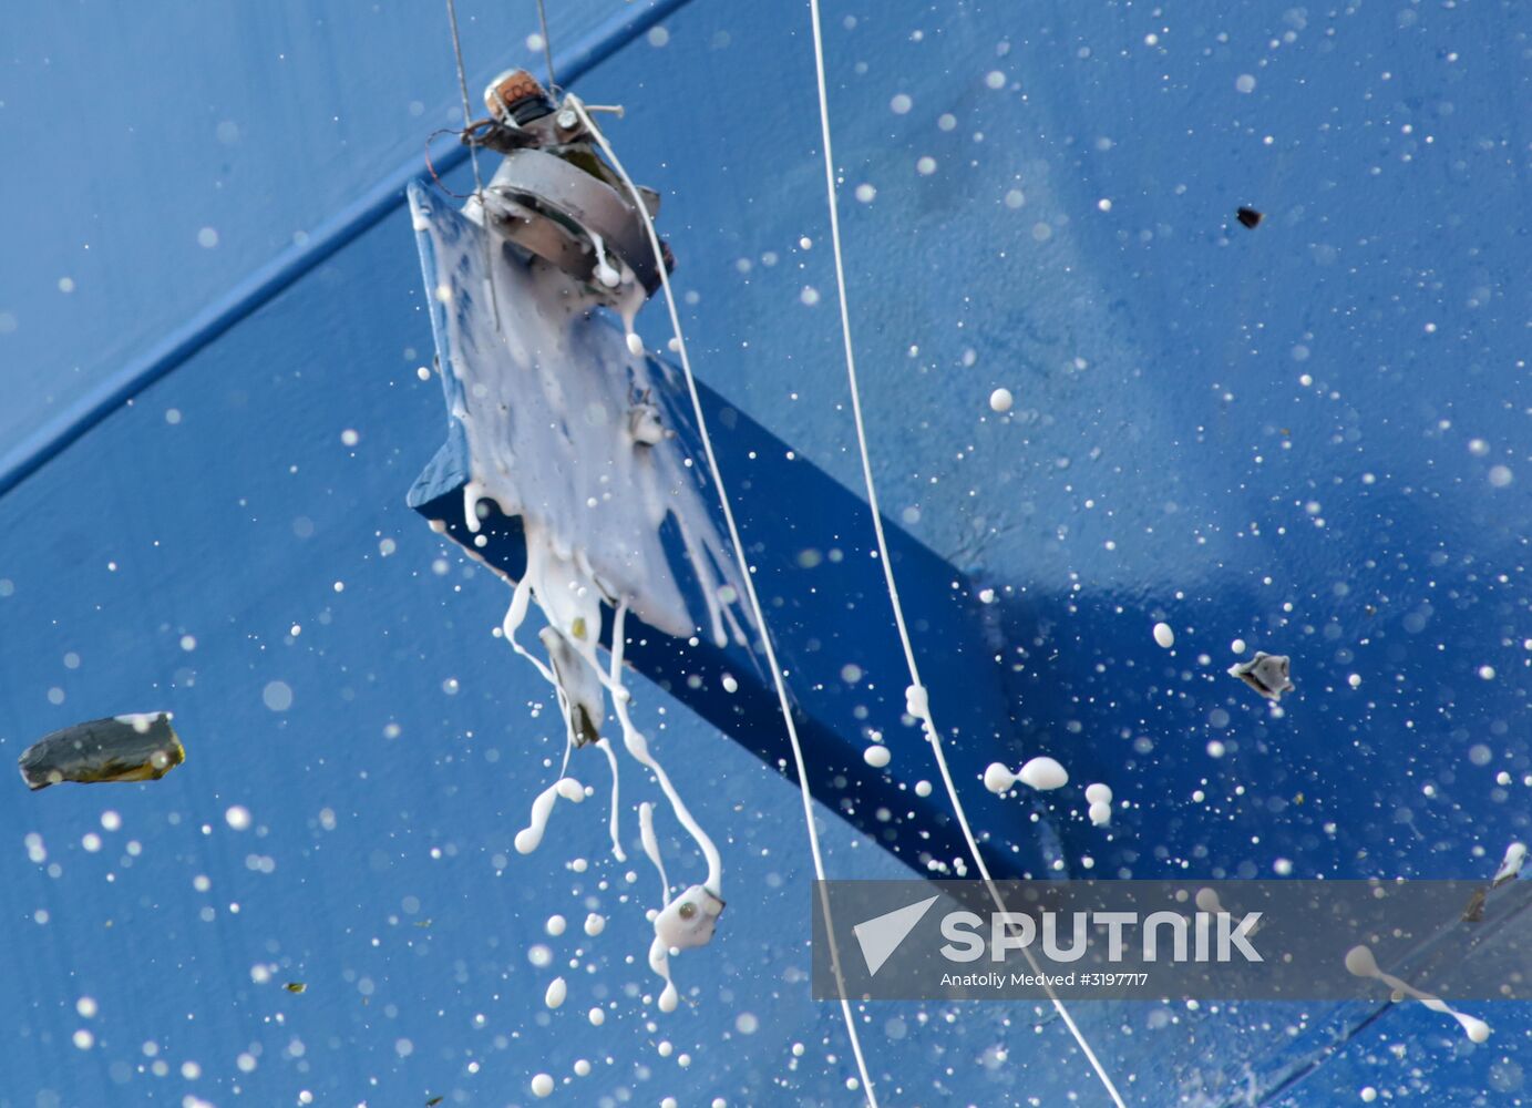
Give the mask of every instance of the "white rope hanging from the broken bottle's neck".
M 809 794 L 809 772 L 803 762 L 803 745 L 798 742 L 798 726 L 792 720 L 792 705 L 787 700 L 787 685 L 781 676 L 781 667 L 777 664 L 777 650 L 772 647 L 771 631 L 766 627 L 766 613 L 761 608 L 760 598 L 755 595 L 755 582 L 751 578 L 749 561 L 745 556 L 745 544 L 740 541 L 740 530 L 734 524 L 734 509 L 729 507 L 729 495 L 723 487 L 723 474 L 719 472 L 719 460 L 712 452 L 712 437 L 708 434 L 708 418 L 702 412 L 702 397 L 697 395 L 697 379 L 691 372 L 691 359 L 686 354 L 686 337 L 682 334 L 680 313 L 676 310 L 676 296 L 671 293 L 669 271 L 665 268 L 665 251 L 660 248 L 659 234 L 654 231 L 654 221 L 648 215 L 648 207 L 643 202 L 643 196 L 639 193 L 633 178 L 622 167 L 622 161 L 617 158 L 616 150 L 607 141 L 607 136 L 601 133 L 594 121 L 585 112 L 585 104 L 581 103 L 573 93 L 565 100 L 590 130 L 591 136 L 601 146 L 602 153 L 611 161 L 611 167 L 622 178 L 622 184 L 627 185 L 628 195 L 633 198 L 633 207 L 639 211 L 643 219 L 643 230 L 648 231 L 650 248 L 654 251 L 654 264 L 660 271 L 660 285 L 665 288 L 665 305 L 669 308 L 671 329 L 676 333 L 676 352 L 680 356 L 682 371 L 686 374 L 686 389 L 691 392 L 691 409 L 697 418 L 697 432 L 702 437 L 702 449 L 708 457 L 708 470 L 712 475 L 712 483 L 719 489 L 719 504 L 723 507 L 723 521 L 729 527 L 729 541 L 734 544 L 734 556 L 740 564 L 740 576 L 745 581 L 745 595 L 749 598 L 751 611 L 755 616 L 755 625 L 761 633 L 761 645 L 766 650 L 766 664 L 771 667 L 772 680 L 777 685 L 777 703 L 781 706 L 781 719 L 787 725 L 787 742 L 792 746 L 794 768 L 798 772 L 798 791 L 803 795 L 803 821 L 809 829 L 809 851 L 813 855 L 813 875 L 820 881 L 820 907 L 824 912 L 824 933 L 829 936 L 830 942 L 830 965 L 835 972 L 835 985 L 841 996 L 841 1016 L 846 1021 L 846 1034 L 852 1042 L 852 1054 L 856 1057 L 856 1070 L 861 1074 L 863 1093 L 867 1097 L 869 1108 L 878 1108 L 878 1096 L 873 1090 L 872 1077 L 867 1073 L 867 1059 L 863 1056 L 861 1038 L 856 1034 L 856 1019 L 852 1015 L 850 1001 L 846 998 L 846 982 L 841 978 L 841 961 L 840 953 L 835 946 L 835 929 L 830 927 L 830 903 L 829 895 L 824 890 L 824 858 L 820 855 L 820 832 L 813 826 L 813 797 Z

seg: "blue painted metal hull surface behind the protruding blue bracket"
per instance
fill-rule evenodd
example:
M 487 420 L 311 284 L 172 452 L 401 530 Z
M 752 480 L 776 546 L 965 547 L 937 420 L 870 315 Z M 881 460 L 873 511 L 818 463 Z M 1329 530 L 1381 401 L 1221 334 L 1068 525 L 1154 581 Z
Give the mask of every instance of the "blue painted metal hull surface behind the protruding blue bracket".
M 184 325 L 449 121 L 440 12 L 408 11 L 319 25 L 213 5 L 173 34 L 93 8 L 12 21 L 0 133 L 37 161 L 0 188 L 9 211 L 49 218 L 15 221 L 0 262 L 0 454 L 64 385 L 95 388 L 95 369 Z M 1527 834 L 1532 772 L 1524 8 L 829 17 L 885 506 L 1000 598 L 985 611 L 1017 733 L 1129 801 L 1106 837 L 1063 798 L 1063 834 L 1108 875 L 1492 869 Z M 475 84 L 524 60 L 533 28 L 504 5 L 480 18 L 495 23 L 470 21 Z M 855 489 L 801 12 L 696 3 L 663 28 L 581 92 L 628 104 L 613 136 L 666 192 L 700 372 Z M 116 90 L 97 143 L 57 141 L 92 75 Z M 241 135 L 228 172 L 208 153 L 224 120 Z M 1236 204 L 1267 221 L 1246 231 Z M 219 247 L 196 244 L 202 227 Z M 155 786 L 26 797 L 17 782 L 0 809 L 0 927 L 21 952 L 0 1103 L 516 1103 L 530 1073 L 562 1079 L 579 1056 L 596 1073 L 561 1088 L 576 1102 L 849 1100 L 835 1013 L 795 976 L 797 798 L 679 702 L 643 697 L 666 708 L 657 740 L 683 751 L 679 785 L 726 829 L 757 906 L 731 898 L 719 944 L 680 959 L 696 1007 L 651 1031 L 625 996 L 647 987 L 624 961 L 639 901 L 619 901 L 617 869 L 564 866 L 602 855 L 599 820 L 559 818 L 556 857 L 513 858 L 555 713 L 489 634 L 502 587 L 398 503 L 441 432 L 414 377 L 430 340 L 408 221 L 386 215 L 291 276 L 0 500 L 0 749 L 161 706 L 188 746 Z M 659 320 L 642 325 L 663 345 Z M 984 403 L 997 385 L 1017 395 L 1003 420 Z M 1235 636 L 1293 656 L 1284 716 L 1223 676 Z M 264 697 L 277 680 L 280 713 Z M 254 829 L 224 823 L 233 803 Z M 107 808 L 123 831 L 101 828 Z M 833 872 L 901 872 L 826 828 Z M 527 950 L 573 956 L 542 923 L 582 918 L 587 897 L 613 913 L 588 992 L 541 1013 Z M 251 981 L 257 962 L 276 984 Z M 290 978 L 308 992 L 279 993 Z M 599 1033 L 596 1002 L 617 1005 Z M 1521 1007 L 1483 1013 L 1485 1047 L 1408 1008 L 1079 1015 L 1138 1103 L 1526 1096 Z M 1095 1102 L 1068 1038 L 1031 1011 L 869 1016 L 898 1102 Z M 660 1036 L 694 1064 L 659 1056 Z

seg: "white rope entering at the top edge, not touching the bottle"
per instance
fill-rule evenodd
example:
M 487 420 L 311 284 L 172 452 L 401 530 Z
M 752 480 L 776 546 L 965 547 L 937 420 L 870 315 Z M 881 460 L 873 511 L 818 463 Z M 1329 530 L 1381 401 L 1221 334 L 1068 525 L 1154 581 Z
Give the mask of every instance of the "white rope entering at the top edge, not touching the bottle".
M 899 585 L 893 578 L 893 559 L 889 558 L 889 541 L 882 533 L 882 512 L 878 507 L 878 486 L 872 477 L 872 458 L 867 452 L 867 426 L 863 421 L 861 389 L 856 383 L 856 351 L 852 345 L 852 320 L 850 310 L 846 302 L 846 265 L 841 261 L 841 219 L 836 207 L 835 155 L 830 149 L 830 101 L 824 84 L 824 37 L 820 31 L 820 0 L 809 0 L 809 14 L 813 21 L 813 66 L 820 87 L 820 132 L 824 143 L 824 187 L 830 210 L 830 248 L 835 254 L 835 288 L 840 296 L 841 307 L 841 337 L 846 346 L 846 377 L 852 391 L 852 417 L 856 421 L 856 446 L 861 449 L 863 480 L 867 486 L 867 507 L 872 509 L 872 526 L 878 536 L 878 559 L 882 562 L 882 576 L 889 585 L 889 604 L 893 607 L 893 622 L 899 628 L 899 642 L 904 647 L 904 662 L 910 670 L 910 685 L 916 690 L 916 696 L 912 697 L 912 702 L 915 702 L 912 706 L 922 708 L 919 713 L 921 726 L 931 745 L 931 752 L 936 756 L 936 768 L 941 771 L 942 783 L 947 786 L 947 797 L 951 801 L 953 814 L 958 817 L 958 826 L 962 828 L 964 838 L 968 843 L 968 852 L 973 855 L 974 864 L 979 867 L 979 874 L 990 890 L 990 897 L 994 900 L 996 909 L 1005 912 L 1005 901 L 1000 898 L 1000 890 L 994 884 L 994 878 L 990 877 L 990 867 L 985 864 L 984 855 L 979 854 L 979 843 L 974 840 L 973 829 L 968 826 L 968 814 L 964 811 L 962 801 L 958 798 L 958 786 L 953 782 L 951 771 L 947 768 L 947 756 L 942 751 L 941 733 L 936 729 L 936 723 L 931 719 L 925 685 L 921 683 L 921 671 L 915 662 L 915 647 L 910 644 L 910 628 L 904 621 L 904 605 L 899 604 Z M 1031 965 L 1033 972 L 1042 976 L 1042 970 L 1033 958 L 1033 952 L 1025 947 L 1022 952 L 1026 955 L 1026 962 Z M 1117 1108 L 1124 1108 L 1121 1094 L 1117 1091 L 1111 1076 L 1108 1076 L 1100 1059 L 1095 1056 L 1095 1051 L 1091 1050 L 1091 1044 L 1069 1016 L 1069 1010 L 1065 1007 L 1063 1001 L 1059 999 L 1059 995 L 1051 985 L 1045 982 L 1043 987 L 1048 990 L 1048 999 L 1052 1001 L 1054 1011 L 1057 1011 L 1059 1018 L 1063 1019 L 1065 1025 L 1069 1028 L 1069 1034 L 1074 1036 L 1075 1044 L 1079 1044 L 1086 1059 L 1089 1059 L 1091 1068 L 1095 1070 L 1095 1076 L 1100 1077 L 1108 1096 L 1112 1097 L 1112 1103 L 1117 1105 Z

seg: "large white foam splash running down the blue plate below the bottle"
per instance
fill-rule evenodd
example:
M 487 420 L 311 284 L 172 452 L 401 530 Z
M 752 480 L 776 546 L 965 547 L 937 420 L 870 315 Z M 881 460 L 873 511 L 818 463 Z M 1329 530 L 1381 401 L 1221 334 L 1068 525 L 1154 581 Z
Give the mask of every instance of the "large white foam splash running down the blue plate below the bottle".
M 450 219 L 434 219 L 423 198 L 412 198 L 412 215 L 432 239 L 435 270 L 444 282 L 438 299 L 446 305 L 446 360 L 461 385 L 452 414 L 469 447 L 466 526 L 472 533 L 481 530 L 481 501 L 521 518 L 527 567 L 515 582 L 501 630 L 553 685 L 565 722 L 561 780 L 533 803 L 532 824 L 516 835 L 516 849 L 535 851 L 555 801 L 574 798 L 565 788 L 573 779 L 564 774 L 573 749 L 593 743 L 602 748 L 613 775 L 611 852 L 625 860 L 617 760 L 611 742 L 596 737 L 605 723 L 602 700 L 610 697 L 625 749 L 654 775 L 677 821 L 697 843 L 708 864 L 706 892 L 722 910 L 720 854 L 633 723 L 624 683 L 630 610 L 666 634 L 702 634 L 719 647 L 731 641 L 751 645 L 735 610 L 745 590 L 731 547 L 714 524 L 699 470 L 671 444 L 685 415 L 665 406 L 668 392 L 657 377 L 663 369 L 648 362 L 634 334 L 643 290 L 601 241 L 593 242 L 596 280 L 617 293 L 619 333 L 597 319 L 597 303 L 610 300 L 610 293 L 596 296 L 556 268 L 536 259 L 521 264 L 510 251 L 490 251 L 493 280 L 481 279 L 486 253 L 475 233 L 453 228 Z M 464 215 L 478 222 L 476 207 L 466 207 Z M 476 302 L 489 296 L 493 311 Z M 686 592 L 673 573 L 669 546 L 679 547 L 689 572 Z M 533 604 L 547 621 L 539 633 L 547 662 L 516 638 Z M 610 665 L 597 657 L 605 608 L 613 611 Z M 584 798 L 584 786 L 574 788 Z M 659 866 L 653 808 L 639 811 L 645 851 Z M 662 881 L 663 912 L 671 904 L 663 869 Z M 587 933 L 599 933 L 599 926 L 593 932 L 587 921 Z M 666 981 L 663 1011 L 679 1002 L 668 959 L 656 936 L 650 964 Z

